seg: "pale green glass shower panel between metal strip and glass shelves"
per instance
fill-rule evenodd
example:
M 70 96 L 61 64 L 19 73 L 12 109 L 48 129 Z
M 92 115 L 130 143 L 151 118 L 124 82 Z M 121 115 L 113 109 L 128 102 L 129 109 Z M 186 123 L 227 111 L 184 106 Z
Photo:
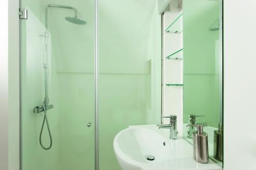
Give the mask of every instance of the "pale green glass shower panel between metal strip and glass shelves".
M 155 0 L 98 4 L 99 169 L 120 170 L 115 135 L 160 120 L 161 16 Z

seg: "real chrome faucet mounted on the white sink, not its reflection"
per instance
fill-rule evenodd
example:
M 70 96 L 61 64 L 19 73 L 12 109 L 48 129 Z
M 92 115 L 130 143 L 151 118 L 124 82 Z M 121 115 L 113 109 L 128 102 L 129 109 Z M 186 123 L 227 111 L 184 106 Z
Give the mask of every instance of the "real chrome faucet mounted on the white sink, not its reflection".
M 170 129 L 169 138 L 177 139 L 177 134 L 178 134 L 178 132 L 177 132 L 177 116 L 176 115 L 161 116 L 161 118 L 169 118 L 170 123 L 157 125 L 158 129 Z

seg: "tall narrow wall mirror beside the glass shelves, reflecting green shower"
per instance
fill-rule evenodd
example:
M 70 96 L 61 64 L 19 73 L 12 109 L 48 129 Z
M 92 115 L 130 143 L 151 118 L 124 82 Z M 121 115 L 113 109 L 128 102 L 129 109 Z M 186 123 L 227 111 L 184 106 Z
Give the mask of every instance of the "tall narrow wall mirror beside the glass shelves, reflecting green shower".
M 209 158 L 222 164 L 214 156 L 223 115 L 221 1 L 183 0 L 183 48 L 183 138 L 193 143 L 196 128 L 187 124 L 205 125 Z

